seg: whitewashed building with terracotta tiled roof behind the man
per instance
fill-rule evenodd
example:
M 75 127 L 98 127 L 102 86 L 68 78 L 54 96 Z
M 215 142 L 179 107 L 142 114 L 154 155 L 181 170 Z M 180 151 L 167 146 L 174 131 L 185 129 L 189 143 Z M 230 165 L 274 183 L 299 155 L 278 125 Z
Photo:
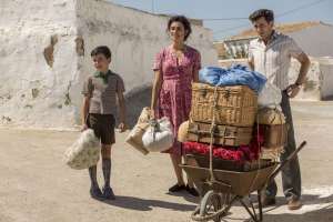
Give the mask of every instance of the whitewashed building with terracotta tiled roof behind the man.
M 292 37 L 311 58 L 307 79 L 297 99 L 330 100 L 333 99 L 333 26 L 323 22 L 300 22 L 279 24 L 275 30 Z M 245 30 L 214 46 L 220 64 L 246 63 L 249 43 L 258 38 L 254 30 Z M 296 79 L 300 63 L 295 60 L 289 72 L 290 82 Z

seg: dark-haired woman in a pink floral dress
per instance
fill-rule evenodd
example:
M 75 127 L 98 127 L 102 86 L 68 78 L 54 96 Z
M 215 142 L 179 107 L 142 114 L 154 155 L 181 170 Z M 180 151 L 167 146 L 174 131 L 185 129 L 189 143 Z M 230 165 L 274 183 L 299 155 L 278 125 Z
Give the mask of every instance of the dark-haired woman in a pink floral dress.
M 198 81 L 201 68 L 200 53 L 185 44 L 191 31 L 191 24 L 185 17 L 176 16 L 169 20 L 168 32 L 172 41 L 155 58 L 151 110 L 155 118 L 170 119 L 175 137 L 173 145 L 167 153 L 170 153 L 178 182 L 169 191 L 186 190 L 192 195 L 198 195 L 193 182 L 189 180 L 186 185 L 184 183 L 182 169 L 179 167 L 183 150 L 182 144 L 176 141 L 180 124 L 189 120 L 191 83 Z

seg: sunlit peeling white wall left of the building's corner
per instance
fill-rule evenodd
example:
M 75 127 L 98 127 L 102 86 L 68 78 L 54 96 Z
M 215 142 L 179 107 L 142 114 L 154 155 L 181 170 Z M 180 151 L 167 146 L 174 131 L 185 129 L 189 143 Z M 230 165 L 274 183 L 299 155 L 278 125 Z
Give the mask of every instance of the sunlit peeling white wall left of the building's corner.
M 0 124 L 73 124 L 75 109 L 64 101 L 77 70 L 74 1 L 0 1 Z M 50 67 L 43 51 L 52 36 Z

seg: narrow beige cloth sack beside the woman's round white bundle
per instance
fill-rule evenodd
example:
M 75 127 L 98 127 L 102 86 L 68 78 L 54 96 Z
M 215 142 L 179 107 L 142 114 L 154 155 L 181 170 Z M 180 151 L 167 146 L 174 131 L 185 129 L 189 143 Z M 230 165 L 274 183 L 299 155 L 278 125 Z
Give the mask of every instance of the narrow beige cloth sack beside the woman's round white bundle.
M 141 114 L 138 119 L 138 123 L 131 130 L 130 134 L 127 137 L 125 142 L 132 145 L 142 154 L 147 155 L 149 151 L 144 148 L 142 142 L 142 137 L 149 127 L 149 119 L 150 119 L 150 109 L 143 108 Z

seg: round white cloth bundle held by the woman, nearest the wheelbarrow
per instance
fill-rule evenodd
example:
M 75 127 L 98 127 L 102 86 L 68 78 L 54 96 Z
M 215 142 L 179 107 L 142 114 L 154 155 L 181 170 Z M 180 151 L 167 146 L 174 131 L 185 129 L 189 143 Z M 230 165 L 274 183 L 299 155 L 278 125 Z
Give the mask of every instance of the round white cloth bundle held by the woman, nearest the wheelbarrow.
M 143 145 L 150 152 L 162 152 L 170 149 L 173 140 L 172 125 L 165 117 L 149 125 L 142 137 Z

